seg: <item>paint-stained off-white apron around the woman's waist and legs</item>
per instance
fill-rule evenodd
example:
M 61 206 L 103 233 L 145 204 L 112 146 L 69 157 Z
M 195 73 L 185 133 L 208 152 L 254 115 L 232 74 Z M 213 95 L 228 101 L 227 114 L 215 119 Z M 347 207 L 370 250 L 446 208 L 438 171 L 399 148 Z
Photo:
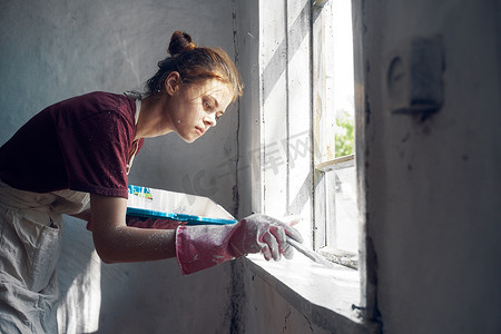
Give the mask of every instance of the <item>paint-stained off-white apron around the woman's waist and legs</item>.
M 0 181 L 0 333 L 58 333 L 61 214 L 88 205 L 87 193 L 37 194 Z

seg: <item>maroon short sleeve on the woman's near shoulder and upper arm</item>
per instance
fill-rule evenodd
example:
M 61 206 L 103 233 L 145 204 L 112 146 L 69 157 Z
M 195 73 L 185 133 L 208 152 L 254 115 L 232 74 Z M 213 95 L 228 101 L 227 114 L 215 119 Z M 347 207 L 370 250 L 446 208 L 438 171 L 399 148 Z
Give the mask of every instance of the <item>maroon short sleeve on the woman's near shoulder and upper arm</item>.
M 134 131 L 117 110 L 95 112 L 60 130 L 69 188 L 127 198 L 127 159 Z

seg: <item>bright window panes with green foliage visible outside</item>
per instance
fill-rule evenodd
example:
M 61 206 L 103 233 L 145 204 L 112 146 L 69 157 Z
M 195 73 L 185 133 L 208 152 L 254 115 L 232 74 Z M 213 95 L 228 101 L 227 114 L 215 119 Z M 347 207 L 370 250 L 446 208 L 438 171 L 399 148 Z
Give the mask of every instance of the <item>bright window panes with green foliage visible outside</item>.
M 314 24 L 315 248 L 356 267 L 358 213 L 354 159 L 354 69 L 351 0 L 326 1 Z M 317 52 L 317 55 L 315 55 Z

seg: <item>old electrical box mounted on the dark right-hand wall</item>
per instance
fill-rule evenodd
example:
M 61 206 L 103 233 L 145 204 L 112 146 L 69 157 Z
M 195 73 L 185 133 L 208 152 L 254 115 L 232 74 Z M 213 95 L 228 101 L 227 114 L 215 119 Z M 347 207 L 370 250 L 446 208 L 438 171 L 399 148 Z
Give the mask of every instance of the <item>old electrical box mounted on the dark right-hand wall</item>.
M 413 38 L 389 59 L 386 100 L 392 114 L 438 111 L 443 105 L 442 37 Z

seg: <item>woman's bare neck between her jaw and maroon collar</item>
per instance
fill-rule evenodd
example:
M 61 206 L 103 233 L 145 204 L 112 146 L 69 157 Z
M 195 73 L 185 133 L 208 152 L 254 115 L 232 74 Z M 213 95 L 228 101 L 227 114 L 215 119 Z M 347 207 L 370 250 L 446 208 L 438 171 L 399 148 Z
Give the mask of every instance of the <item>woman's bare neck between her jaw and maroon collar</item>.
M 167 135 L 174 130 L 166 117 L 167 96 L 148 96 L 141 100 L 141 110 L 137 121 L 136 140 Z

